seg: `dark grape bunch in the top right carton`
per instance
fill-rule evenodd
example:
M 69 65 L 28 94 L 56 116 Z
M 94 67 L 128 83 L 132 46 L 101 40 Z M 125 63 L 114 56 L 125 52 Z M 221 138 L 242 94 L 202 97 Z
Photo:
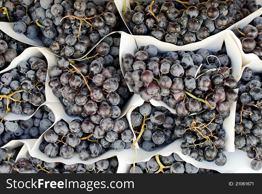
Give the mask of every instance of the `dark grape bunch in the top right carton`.
M 258 10 L 255 0 L 149 1 L 131 4 L 124 19 L 134 35 L 149 35 L 175 45 L 203 40 Z

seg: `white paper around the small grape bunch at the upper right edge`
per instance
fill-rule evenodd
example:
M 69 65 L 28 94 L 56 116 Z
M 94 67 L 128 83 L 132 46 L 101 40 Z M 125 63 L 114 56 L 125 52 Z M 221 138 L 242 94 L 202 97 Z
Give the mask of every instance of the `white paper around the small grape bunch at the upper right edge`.
M 247 17 L 247 18 L 244 18 L 243 20 L 239 21 L 237 24 L 238 24 L 238 28 L 243 28 L 245 25 L 249 24 L 250 22 L 252 22 L 252 20 L 255 18 L 255 17 L 258 17 L 262 15 L 262 9 L 259 9 L 257 10 L 256 12 L 252 13 L 252 17 Z M 236 24 L 231 26 L 230 29 L 235 29 L 236 28 Z M 242 66 L 246 65 L 246 64 L 249 64 L 251 61 L 261 61 L 258 56 L 254 53 L 244 53 L 243 49 L 242 49 L 242 44 L 241 44 L 241 41 L 239 40 L 238 37 L 236 37 L 236 35 L 233 33 L 233 34 L 230 34 L 233 38 L 233 40 L 236 42 L 236 45 L 241 53 L 241 58 L 242 58 Z

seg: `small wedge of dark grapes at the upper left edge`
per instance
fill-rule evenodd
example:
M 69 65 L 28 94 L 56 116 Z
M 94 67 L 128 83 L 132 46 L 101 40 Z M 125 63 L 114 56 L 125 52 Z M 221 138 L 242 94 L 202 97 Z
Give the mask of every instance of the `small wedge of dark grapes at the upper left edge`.
M 20 55 L 27 45 L 15 40 L 0 31 L 0 70 L 5 69 L 10 63 Z

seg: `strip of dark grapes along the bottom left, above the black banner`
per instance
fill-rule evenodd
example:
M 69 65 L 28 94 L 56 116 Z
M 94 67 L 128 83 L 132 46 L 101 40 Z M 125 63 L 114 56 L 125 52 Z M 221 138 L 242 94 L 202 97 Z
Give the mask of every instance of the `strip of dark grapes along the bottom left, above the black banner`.
M 18 149 L 11 147 L 1 148 L 0 173 L 116 173 L 118 168 L 117 157 L 99 160 L 92 164 L 63 164 L 44 162 L 38 158 L 19 158 L 15 162 Z

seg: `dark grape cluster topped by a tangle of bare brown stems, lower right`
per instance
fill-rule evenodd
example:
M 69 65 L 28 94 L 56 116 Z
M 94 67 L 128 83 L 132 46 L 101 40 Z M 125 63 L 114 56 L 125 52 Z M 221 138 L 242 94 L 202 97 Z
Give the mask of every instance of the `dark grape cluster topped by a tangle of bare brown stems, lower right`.
M 210 110 L 185 118 L 177 116 L 174 119 L 174 135 L 184 140 L 180 144 L 182 154 L 198 162 L 214 161 L 216 165 L 224 166 L 227 162 L 223 152 L 226 132 L 222 124 L 229 114 Z

